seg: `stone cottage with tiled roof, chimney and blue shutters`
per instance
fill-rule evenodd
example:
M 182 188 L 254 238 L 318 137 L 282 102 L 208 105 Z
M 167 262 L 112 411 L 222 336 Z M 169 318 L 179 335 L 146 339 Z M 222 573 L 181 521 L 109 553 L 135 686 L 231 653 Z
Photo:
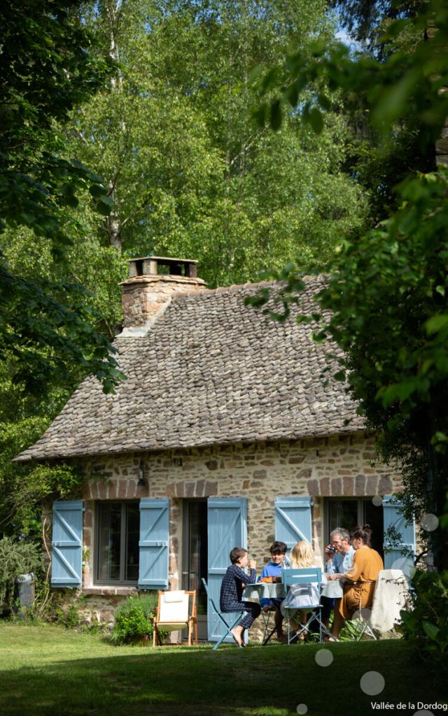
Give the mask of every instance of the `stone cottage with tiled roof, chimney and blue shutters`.
M 321 280 L 308 279 L 302 312 Z M 195 261 L 130 261 L 115 339 L 128 379 L 116 395 L 85 379 L 16 458 L 82 466 L 82 500 L 57 501 L 48 520 L 52 586 L 81 590 L 99 619 L 138 590 L 197 589 L 213 640 L 201 578 L 219 596 L 234 546 L 261 567 L 275 538 L 306 538 L 321 558 L 335 526 L 365 521 L 379 551 L 390 525 L 413 546 L 390 500 L 399 475 L 372 464 L 374 438 L 344 385 L 323 381 L 326 347 L 311 326 L 244 306 L 259 286 L 206 290 Z

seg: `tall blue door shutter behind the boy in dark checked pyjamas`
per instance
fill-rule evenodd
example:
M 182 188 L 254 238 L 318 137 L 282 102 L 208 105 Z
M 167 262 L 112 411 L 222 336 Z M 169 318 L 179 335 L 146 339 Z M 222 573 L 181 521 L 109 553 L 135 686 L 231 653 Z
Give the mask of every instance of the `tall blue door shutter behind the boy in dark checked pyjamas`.
M 229 553 L 234 547 L 247 548 L 247 500 L 246 498 L 209 498 L 209 592 L 219 609 L 221 581 L 230 565 Z M 229 621 L 237 615 L 229 614 Z M 207 627 L 210 642 L 217 642 L 224 634 L 224 624 L 207 610 Z M 226 641 L 232 642 L 232 637 Z

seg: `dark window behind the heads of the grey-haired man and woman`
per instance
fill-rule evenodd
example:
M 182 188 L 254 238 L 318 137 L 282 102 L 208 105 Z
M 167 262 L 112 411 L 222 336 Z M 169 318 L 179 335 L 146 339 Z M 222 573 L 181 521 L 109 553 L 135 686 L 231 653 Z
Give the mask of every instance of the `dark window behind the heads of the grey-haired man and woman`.
M 372 547 L 383 556 L 383 508 L 373 505 L 372 498 L 328 498 L 325 500 L 325 545 L 335 527 L 351 530 L 356 525 L 372 528 Z

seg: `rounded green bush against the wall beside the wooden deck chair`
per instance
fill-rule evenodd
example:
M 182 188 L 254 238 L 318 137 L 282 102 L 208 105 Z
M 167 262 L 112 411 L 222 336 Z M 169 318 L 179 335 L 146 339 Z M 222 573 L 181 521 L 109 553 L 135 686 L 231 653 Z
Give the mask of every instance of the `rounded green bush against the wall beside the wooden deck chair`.
M 130 596 L 120 604 L 114 615 L 111 640 L 114 644 L 128 644 L 153 633 L 151 616 L 156 614 L 158 595 Z

